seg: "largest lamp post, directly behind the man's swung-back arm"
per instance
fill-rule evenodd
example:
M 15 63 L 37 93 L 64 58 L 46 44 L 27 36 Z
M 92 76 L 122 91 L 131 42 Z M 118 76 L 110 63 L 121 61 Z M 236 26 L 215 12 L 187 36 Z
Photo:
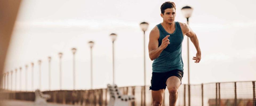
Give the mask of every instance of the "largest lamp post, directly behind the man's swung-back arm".
M 192 15 L 193 8 L 185 6 L 181 8 L 181 12 L 185 18 L 187 18 L 187 24 L 189 24 L 189 17 Z M 188 94 L 189 94 L 189 106 L 190 106 L 190 75 L 189 75 L 189 37 L 187 37 L 187 67 L 188 67 Z

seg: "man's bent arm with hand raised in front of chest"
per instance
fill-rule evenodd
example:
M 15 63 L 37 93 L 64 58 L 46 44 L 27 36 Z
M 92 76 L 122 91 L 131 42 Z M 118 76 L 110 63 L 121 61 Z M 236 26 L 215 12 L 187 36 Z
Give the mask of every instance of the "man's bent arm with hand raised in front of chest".
M 159 57 L 163 49 L 170 44 L 170 40 L 168 39 L 170 35 L 166 36 L 162 40 L 161 46 L 158 47 L 158 39 L 159 39 L 159 30 L 157 27 L 154 27 L 149 34 L 149 58 L 150 60 L 154 60 Z

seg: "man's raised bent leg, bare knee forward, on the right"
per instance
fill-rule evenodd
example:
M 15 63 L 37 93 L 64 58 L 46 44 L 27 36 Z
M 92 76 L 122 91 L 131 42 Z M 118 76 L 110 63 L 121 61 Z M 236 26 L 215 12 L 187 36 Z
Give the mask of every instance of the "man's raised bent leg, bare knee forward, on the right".
M 167 89 L 169 91 L 169 105 L 175 106 L 178 98 L 178 89 L 181 85 L 181 80 L 176 76 L 171 76 L 166 81 Z

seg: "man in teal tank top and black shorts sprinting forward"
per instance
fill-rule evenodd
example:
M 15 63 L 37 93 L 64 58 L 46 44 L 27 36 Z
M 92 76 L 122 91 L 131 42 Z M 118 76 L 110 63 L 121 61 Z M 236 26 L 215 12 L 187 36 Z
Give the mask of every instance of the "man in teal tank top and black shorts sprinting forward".
M 150 90 L 152 90 L 153 106 L 161 106 L 164 90 L 169 91 L 169 105 L 174 106 L 177 91 L 183 77 L 183 61 L 181 57 L 184 35 L 190 38 L 197 54 L 195 63 L 201 60 L 201 50 L 196 34 L 188 24 L 176 22 L 174 2 L 165 2 L 161 6 L 163 22 L 156 25 L 149 34 L 149 57 L 153 61 Z

